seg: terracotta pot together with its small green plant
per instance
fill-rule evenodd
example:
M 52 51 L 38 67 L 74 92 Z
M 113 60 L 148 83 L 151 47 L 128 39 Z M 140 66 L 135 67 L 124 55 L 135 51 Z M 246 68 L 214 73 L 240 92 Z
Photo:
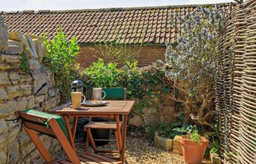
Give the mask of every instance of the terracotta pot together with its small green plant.
M 197 130 L 181 136 L 181 146 L 185 163 L 201 163 L 208 146 L 208 139 L 200 136 Z

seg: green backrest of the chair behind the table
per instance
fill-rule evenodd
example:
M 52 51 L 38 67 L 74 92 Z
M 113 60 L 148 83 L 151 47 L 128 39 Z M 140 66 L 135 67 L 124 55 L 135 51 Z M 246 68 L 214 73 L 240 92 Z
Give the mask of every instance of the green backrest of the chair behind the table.
M 127 88 L 124 87 L 102 87 L 105 91 L 105 100 L 126 100 L 127 99 Z

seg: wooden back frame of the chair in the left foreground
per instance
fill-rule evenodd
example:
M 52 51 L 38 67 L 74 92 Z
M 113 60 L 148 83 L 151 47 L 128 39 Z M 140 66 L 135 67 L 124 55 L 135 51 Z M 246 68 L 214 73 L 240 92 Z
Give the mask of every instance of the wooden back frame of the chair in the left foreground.
M 59 122 L 53 116 L 50 117 L 50 115 L 47 115 L 47 113 L 45 113 L 45 115 L 39 115 L 36 113 L 32 114 L 31 112 L 28 112 L 28 110 L 15 112 L 15 117 L 19 119 L 19 122 L 23 125 L 23 129 L 26 130 L 26 133 L 28 133 L 29 137 L 34 142 L 46 163 L 53 163 L 53 158 L 50 156 L 50 153 L 45 148 L 44 144 L 42 144 L 37 132 L 44 133 L 58 139 L 69 157 L 69 160 L 75 164 L 80 163 L 75 150 L 71 147 L 71 144 L 69 144 L 67 136 L 65 135 L 64 130 L 61 129 Z

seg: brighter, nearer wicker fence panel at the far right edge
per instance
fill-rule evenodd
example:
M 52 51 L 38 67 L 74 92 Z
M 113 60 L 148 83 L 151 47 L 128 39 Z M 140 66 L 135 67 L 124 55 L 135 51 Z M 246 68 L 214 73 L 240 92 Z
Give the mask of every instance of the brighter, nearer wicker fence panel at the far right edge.
M 256 1 L 244 3 L 246 45 L 241 107 L 239 159 L 243 163 L 256 163 Z

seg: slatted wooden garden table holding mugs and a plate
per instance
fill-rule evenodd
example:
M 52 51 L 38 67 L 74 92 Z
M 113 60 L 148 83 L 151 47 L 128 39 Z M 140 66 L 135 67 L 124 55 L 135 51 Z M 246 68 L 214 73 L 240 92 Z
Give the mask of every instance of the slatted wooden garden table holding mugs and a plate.
M 120 115 L 123 116 L 121 125 L 121 141 L 118 138 L 117 141 L 121 143 L 120 160 L 124 163 L 125 154 L 125 144 L 126 144 L 126 134 L 127 134 L 127 115 L 132 110 L 132 106 L 135 101 L 108 101 L 109 104 L 106 106 L 81 106 L 80 109 L 72 109 L 71 106 L 59 106 L 55 109 L 51 109 L 49 112 L 53 114 L 60 114 L 64 123 L 67 127 L 67 133 L 69 135 L 69 142 L 75 149 L 75 132 L 78 124 L 78 117 L 110 117 L 119 118 Z M 69 125 L 70 117 L 74 117 L 73 127 Z M 117 127 L 119 127 L 119 122 L 116 122 Z M 117 128 L 119 130 L 120 128 Z

